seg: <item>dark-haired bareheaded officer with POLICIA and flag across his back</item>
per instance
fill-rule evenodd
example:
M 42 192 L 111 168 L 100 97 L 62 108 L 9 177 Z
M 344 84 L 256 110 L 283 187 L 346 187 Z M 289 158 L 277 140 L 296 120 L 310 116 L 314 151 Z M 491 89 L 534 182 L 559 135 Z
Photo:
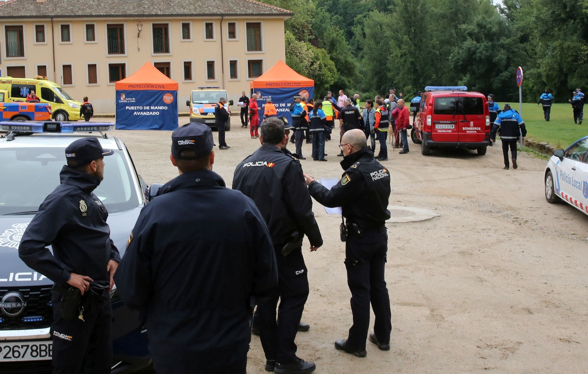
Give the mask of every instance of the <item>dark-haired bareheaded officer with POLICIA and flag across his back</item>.
M 296 356 L 294 342 L 309 293 L 302 238 L 308 236 L 311 251 L 322 246 L 323 239 L 312 213 L 302 167 L 296 158 L 282 151 L 288 142 L 282 121 L 268 118 L 261 131 L 262 146 L 237 166 L 233 189 L 255 201 L 268 223 L 276 250 L 278 290 L 266 299 L 258 299 L 266 370 L 310 373 L 315 364 Z M 279 323 L 276 321 L 278 299 Z

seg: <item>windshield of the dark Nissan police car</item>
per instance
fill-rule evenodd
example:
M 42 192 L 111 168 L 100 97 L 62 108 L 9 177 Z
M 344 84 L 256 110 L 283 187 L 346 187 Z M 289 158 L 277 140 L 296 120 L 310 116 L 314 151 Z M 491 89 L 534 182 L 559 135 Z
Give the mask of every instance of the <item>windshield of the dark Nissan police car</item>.
M 139 205 L 131 170 L 120 150 L 104 157 L 104 180 L 94 190 L 109 213 Z M 0 215 L 35 212 L 56 186 L 65 164 L 64 148 L 0 149 Z

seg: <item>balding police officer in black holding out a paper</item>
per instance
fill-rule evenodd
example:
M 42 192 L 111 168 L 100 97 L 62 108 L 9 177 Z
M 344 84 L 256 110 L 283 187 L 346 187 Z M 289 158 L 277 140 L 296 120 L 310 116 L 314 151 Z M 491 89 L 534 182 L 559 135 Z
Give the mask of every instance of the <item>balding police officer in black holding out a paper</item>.
M 353 326 L 348 339 L 337 340 L 336 349 L 365 357 L 369 329 L 369 305 L 376 316 L 370 342 L 381 350 L 390 349 L 390 299 L 384 278 L 387 234 L 385 221 L 390 197 L 390 173 L 373 158 L 361 130 L 343 135 L 340 147 L 345 153 L 341 166 L 345 170 L 338 184 L 328 190 L 305 174 L 310 195 L 326 207 L 342 207 L 342 241 L 345 267 L 351 291 Z M 361 196 L 362 198 L 358 198 Z M 345 228 L 345 229 L 343 229 Z M 346 234 L 345 234 L 346 232 Z

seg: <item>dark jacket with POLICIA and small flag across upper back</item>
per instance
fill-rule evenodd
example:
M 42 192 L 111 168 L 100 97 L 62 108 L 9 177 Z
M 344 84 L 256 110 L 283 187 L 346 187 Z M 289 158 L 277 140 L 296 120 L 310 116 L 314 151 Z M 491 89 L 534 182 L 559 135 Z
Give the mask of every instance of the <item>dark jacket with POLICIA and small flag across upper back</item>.
M 300 161 L 272 144 L 263 144 L 236 168 L 233 190 L 255 201 L 268 223 L 273 243 L 285 244 L 298 231 L 310 244 L 323 244 L 319 225 L 312 213 L 312 199 L 302 174 Z

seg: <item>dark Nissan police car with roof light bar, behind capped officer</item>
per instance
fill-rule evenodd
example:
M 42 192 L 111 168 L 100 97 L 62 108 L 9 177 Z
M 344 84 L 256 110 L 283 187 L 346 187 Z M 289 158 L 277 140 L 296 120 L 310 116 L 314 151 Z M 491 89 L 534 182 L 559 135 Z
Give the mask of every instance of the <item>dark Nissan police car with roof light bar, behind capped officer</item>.
M 94 193 L 108 208 L 111 238 L 121 252 L 150 189 L 136 172 L 125 143 L 109 136 L 113 124 L 0 122 L 0 372 L 38 373 L 51 366 L 53 282 L 18 257 L 26 227 L 45 197 L 59 184 L 65 148 L 81 137 L 97 137 L 103 148 L 104 180 Z M 23 135 L 29 136 L 23 136 Z M 161 185 L 158 185 L 161 186 Z M 152 186 L 152 187 L 155 187 Z M 155 195 L 155 188 L 153 195 Z M 151 363 L 141 320 L 111 293 L 112 373 L 131 373 Z

